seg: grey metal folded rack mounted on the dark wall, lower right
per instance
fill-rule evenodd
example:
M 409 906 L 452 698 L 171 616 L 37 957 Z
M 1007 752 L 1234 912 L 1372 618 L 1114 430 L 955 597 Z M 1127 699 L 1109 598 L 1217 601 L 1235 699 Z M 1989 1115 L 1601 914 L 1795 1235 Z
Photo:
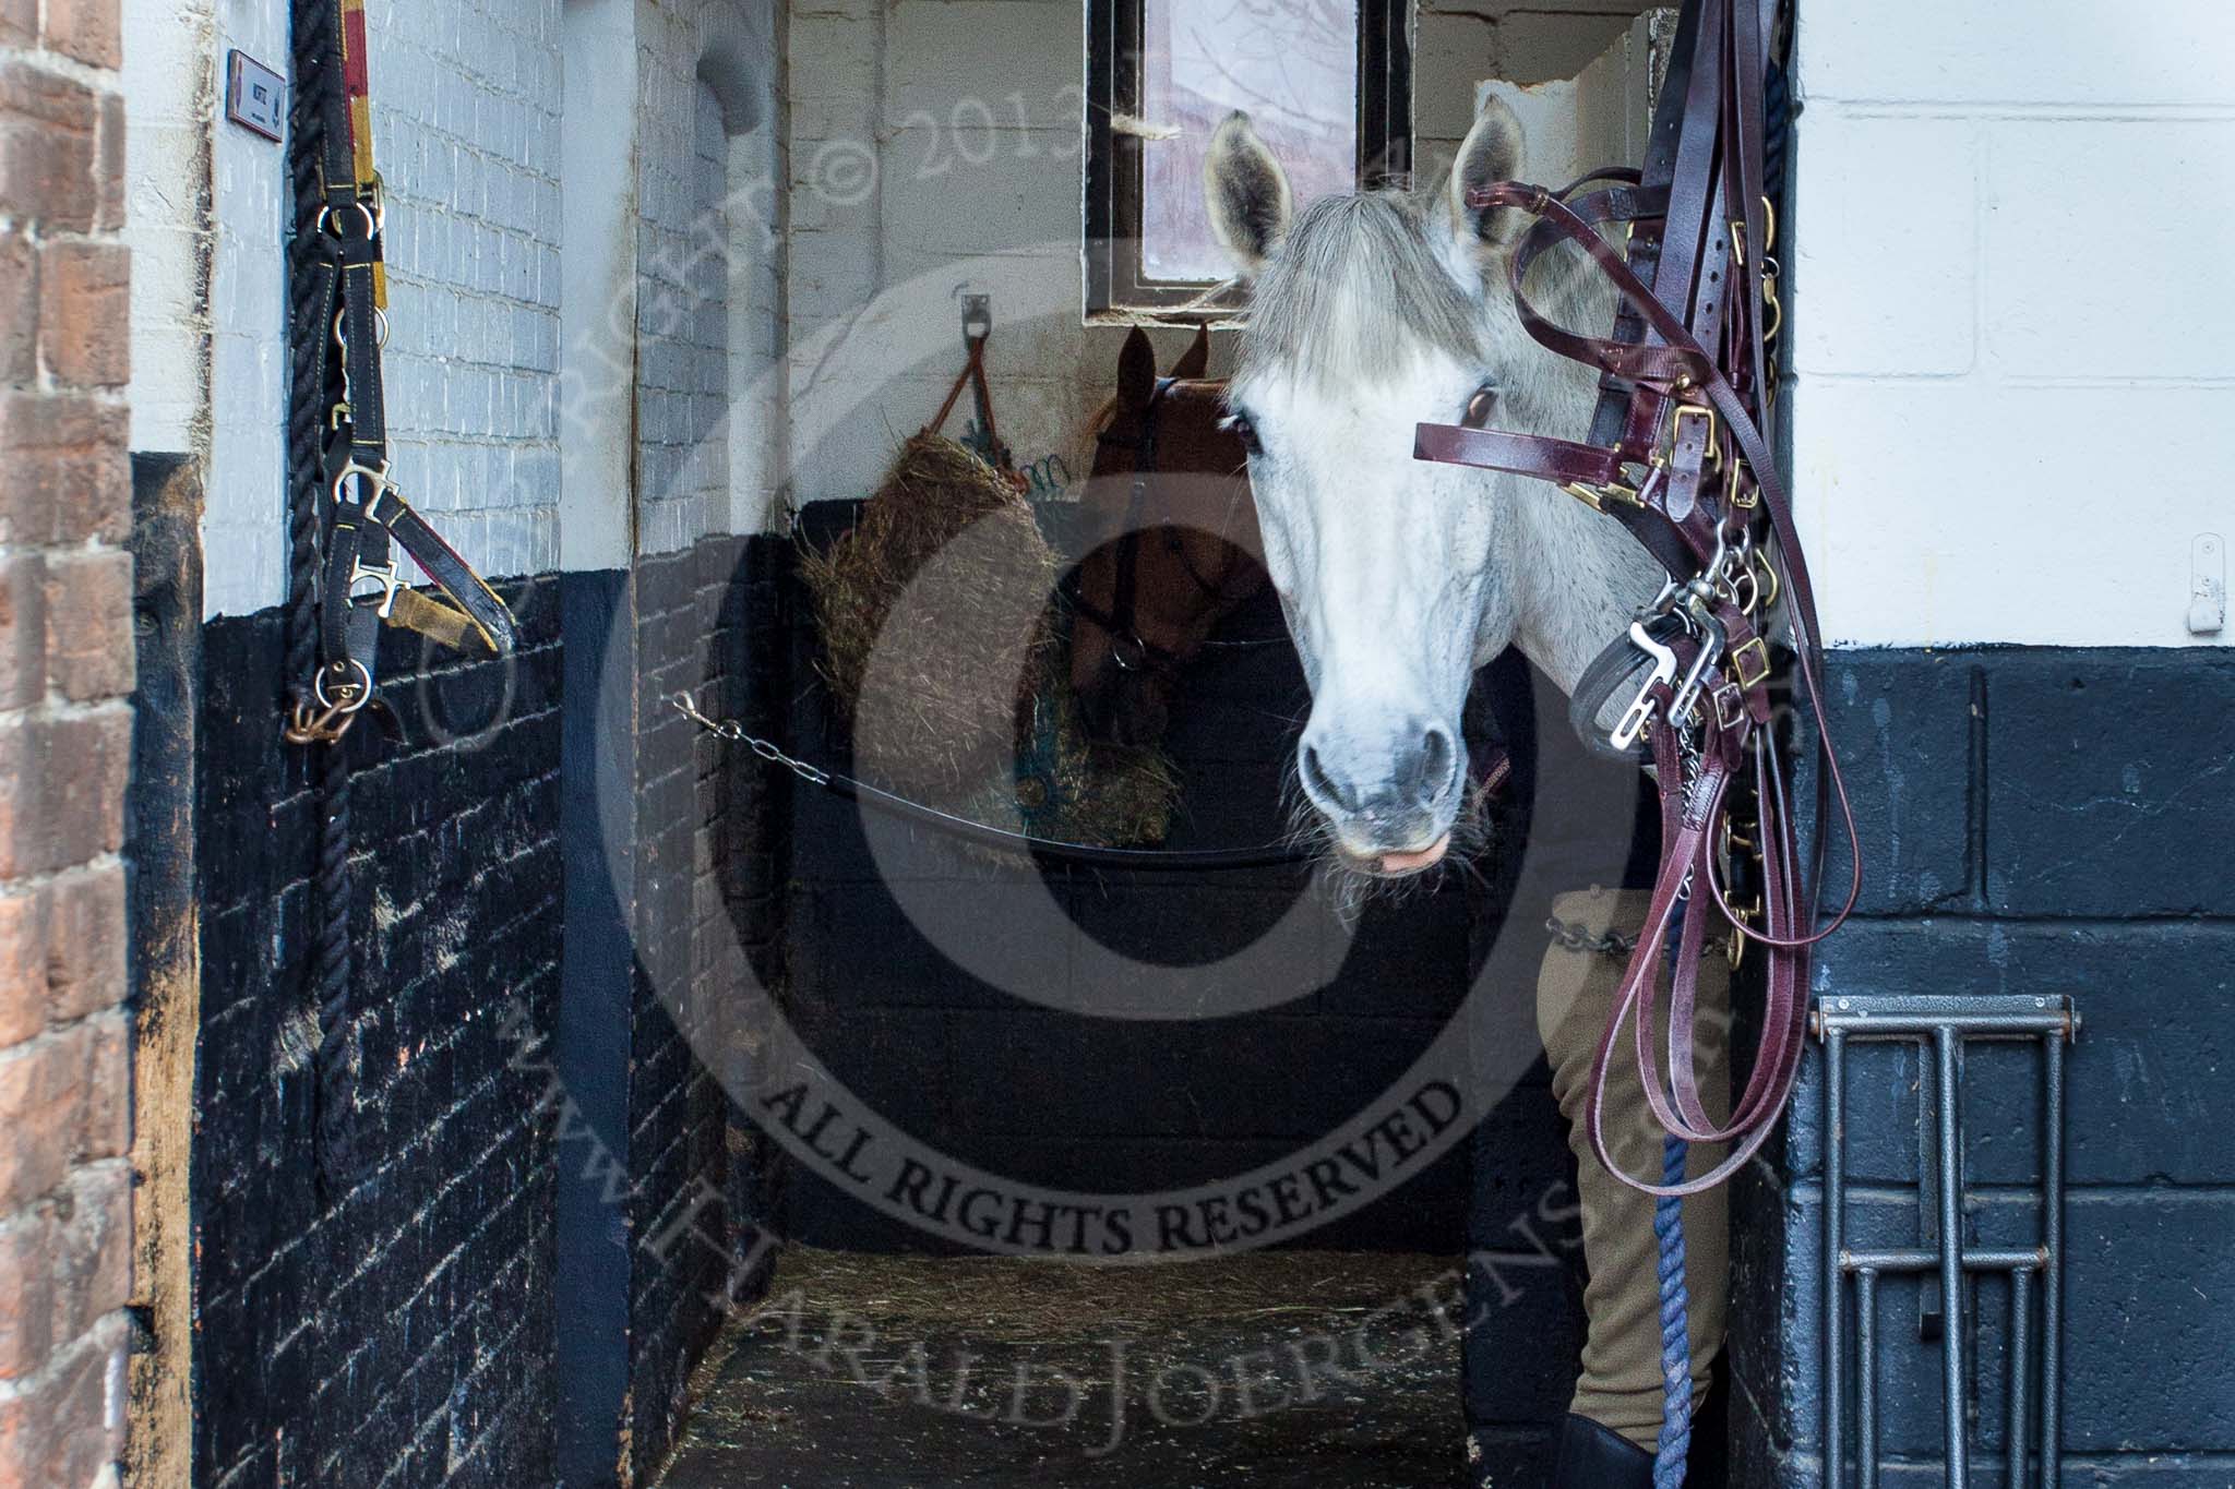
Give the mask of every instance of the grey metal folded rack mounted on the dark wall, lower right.
M 2041 1485 L 2063 1476 L 2063 1248 L 2065 1248 L 2065 1045 L 2079 1034 L 2070 998 L 1819 998 L 1815 1034 L 1824 1040 L 1824 1482 L 1846 1482 L 1846 1295 L 1855 1293 L 1855 1458 L 1860 1489 L 1877 1489 L 1877 1284 L 1884 1277 L 1938 1277 L 1940 1371 L 1947 1411 L 1947 1482 L 1969 1489 L 1971 1438 L 1965 1393 L 1965 1277 L 2009 1279 L 2007 1485 L 2027 1487 L 2034 1281 L 2041 1281 Z M 1920 1080 L 1920 1139 L 1931 1132 L 1931 1165 L 1918 1174 L 1933 1214 L 1920 1230 L 1936 1246 L 1851 1250 L 1846 1246 L 1846 1049 L 1857 1040 L 1904 1040 L 1929 1049 L 1933 1080 Z M 1987 1250 L 1962 1246 L 1962 1047 L 1969 1040 L 2041 1040 L 2043 1141 L 2041 1246 Z M 1920 1072 L 1922 1074 L 1922 1072 Z M 1931 1121 L 1927 1121 L 1931 1118 Z

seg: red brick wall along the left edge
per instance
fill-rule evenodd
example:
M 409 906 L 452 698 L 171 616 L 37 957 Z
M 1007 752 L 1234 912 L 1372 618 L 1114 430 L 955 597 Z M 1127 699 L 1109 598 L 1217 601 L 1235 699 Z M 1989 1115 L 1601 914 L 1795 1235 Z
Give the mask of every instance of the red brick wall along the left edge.
M 0 0 L 0 1489 L 114 1482 L 132 1286 L 116 0 Z

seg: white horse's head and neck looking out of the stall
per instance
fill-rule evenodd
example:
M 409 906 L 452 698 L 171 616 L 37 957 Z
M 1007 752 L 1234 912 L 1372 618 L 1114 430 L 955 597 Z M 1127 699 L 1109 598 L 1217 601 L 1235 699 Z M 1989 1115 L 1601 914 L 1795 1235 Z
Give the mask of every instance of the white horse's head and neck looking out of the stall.
M 1573 688 L 1661 583 L 1611 518 L 1556 487 L 1413 458 L 1419 422 L 1459 422 L 1484 388 L 1502 429 L 1589 429 L 1596 373 L 1515 315 L 1515 223 L 1466 203 L 1520 174 L 1520 123 L 1497 103 L 1430 192 L 1299 214 L 1245 114 L 1205 161 L 1214 230 L 1252 295 L 1227 402 L 1312 685 L 1296 772 L 1337 859 L 1379 877 L 1451 848 L 1473 795 L 1459 714 L 1475 670 L 1513 643 Z M 1605 324 L 1589 277 L 1547 277 L 1556 319 Z

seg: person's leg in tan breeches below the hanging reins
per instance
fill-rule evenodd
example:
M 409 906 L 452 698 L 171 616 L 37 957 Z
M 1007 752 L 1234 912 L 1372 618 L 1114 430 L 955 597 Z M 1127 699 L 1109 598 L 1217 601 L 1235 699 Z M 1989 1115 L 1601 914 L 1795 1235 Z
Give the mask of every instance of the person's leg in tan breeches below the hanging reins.
M 1585 891 L 1560 895 L 1553 920 L 1582 940 L 1609 933 L 1632 938 L 1645 918 L 1643 891 Z M 1573 949 L 1556 935 L 1538 978 L 1538 1031 L 1551 1058 L 1553 1096 L 1569 1121 L 1582 1203 L 1582 1250 L 1591 1279 L 1585 1288 L 1589 1333 L 1582 1348 L 1582 1380 L 1571 1411 L 1611 1429 L 1627 1442 L 1652 1449 L 1661 1435 L 1661 1290 L 1654 1199 L 1607 1174 L 1591 1152 L 1589 1085 L 1598 1040 L 1620 991 L 1627 958 L 1605 949 Z M 1721 953 L 1710 951 L 1699 978 L 1701 1098 L 1710 1116 L 1728 1103 L 1728 1009 L 1730 978 Z M 1663 1000 L 1665 1007 L 1665 1000 Z M 1640 1179 L 1661 1176 L 1663 1136 L 1638 1083 L 1629 1034 L 1616 1049 L 1607 1087 L 1607 1147 L 1618 1165 Z M 1712 1168 L 1723 1152 L 1694 1150 L 1692 1172 Z M 1685 1248 L 1692 1290 L 1692 1389 L 1705 1400 L 1716 1353 L 1723 1348 L 1723 1317 L 1730 1286 L 1730 1201 L 1725 1190 L 1685 1201 Z

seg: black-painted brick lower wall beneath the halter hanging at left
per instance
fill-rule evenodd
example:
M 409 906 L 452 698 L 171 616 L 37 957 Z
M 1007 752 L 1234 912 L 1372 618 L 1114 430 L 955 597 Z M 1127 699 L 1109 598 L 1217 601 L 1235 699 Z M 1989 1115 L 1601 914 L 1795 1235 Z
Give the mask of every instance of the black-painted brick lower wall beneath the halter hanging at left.
M 514 1069 L 559 984 L 559 614 L 512 663 L 382 643 L 400 741 L 358 761 L 351 1152 L 315 1188 L 313 806 L 277 612 L 206 627 L 192 1159 L 197 1482 L 548 1480 L 552 1134 Z M 434 665 L 429 665 L 434 661 Z

